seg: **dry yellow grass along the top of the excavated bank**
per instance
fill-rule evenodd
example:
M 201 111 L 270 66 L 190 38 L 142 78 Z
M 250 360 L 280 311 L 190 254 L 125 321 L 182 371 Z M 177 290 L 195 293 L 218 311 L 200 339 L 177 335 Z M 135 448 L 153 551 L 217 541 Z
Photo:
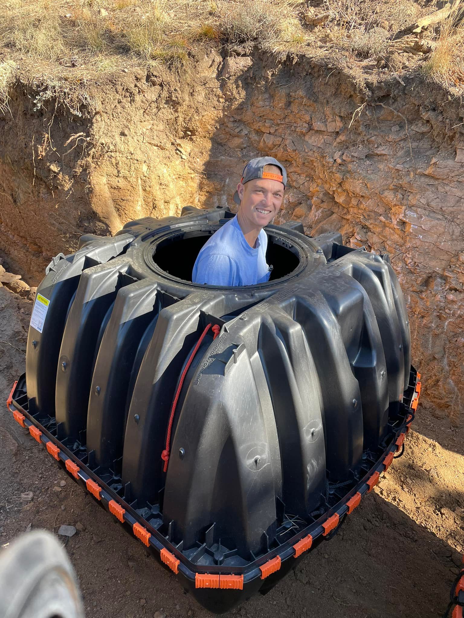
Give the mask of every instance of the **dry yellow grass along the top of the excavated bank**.
M 387 53 L 395 33 L 430 11 L 419 0 L 314 4 L 311 11 L 330 13 L 317 27 L 304 20 L 307 0 L 3 0 L 0 112 L 6 109 L 15 66 L 31 83 L 53 85 L 43 90 L 39 104 L 62 88 L 68 108 L 79 112 L 70 89 L 82 93 L 87 80 L 125 66 L 163 63 L 180 71 L 192 51 L 212 45 L 239 53 L 259 47 L 281 56 L 311 49 L 364 62 Z M 455 76 L 462 47 L 460 32 L 444 25 L 427 75 Z

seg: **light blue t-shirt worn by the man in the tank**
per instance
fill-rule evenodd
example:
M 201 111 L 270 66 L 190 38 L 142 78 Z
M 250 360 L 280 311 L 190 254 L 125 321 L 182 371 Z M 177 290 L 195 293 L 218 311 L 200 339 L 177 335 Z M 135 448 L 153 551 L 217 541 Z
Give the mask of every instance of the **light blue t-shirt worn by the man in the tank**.
M 192 281 L 210 286 L 254 286 L 268 281 L 266 250 L 266 232 L 259 232 L 256 247 L 252 248 L 234 217 L 202 247 L 195 260 Z

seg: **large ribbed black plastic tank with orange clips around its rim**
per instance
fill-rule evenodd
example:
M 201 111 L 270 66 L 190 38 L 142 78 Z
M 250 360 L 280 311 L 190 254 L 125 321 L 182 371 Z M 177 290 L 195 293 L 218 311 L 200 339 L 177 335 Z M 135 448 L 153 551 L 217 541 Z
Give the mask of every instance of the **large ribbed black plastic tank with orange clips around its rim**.
M 233 216 L 187 207 L 54 258 L 12 392 L 33 437 L 217 612 L 351 513 L 418 396 L 388 256 L 290 222 L 265 228 L 269 282 L 192 283 Z

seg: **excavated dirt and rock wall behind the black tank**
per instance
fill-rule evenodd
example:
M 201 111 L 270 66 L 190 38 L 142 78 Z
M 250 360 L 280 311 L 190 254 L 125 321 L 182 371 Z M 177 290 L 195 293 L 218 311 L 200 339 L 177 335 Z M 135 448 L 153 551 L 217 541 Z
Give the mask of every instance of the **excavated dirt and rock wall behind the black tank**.
M 413 75 L 366 83 L 305 57 L 215 51 L 181 75 L 122 73 L 95 99 L 87 118 L 51 103 L 34 111 L 18 85 L 0 118 L 0 248 L 17 272 L 37 284 L 84 232 L 187 204 L 232 205 L 244 162 L 276 156 L 290 180 L 281 219 L 391 254 L 433 413 L 460 423 L 460 101 Z

